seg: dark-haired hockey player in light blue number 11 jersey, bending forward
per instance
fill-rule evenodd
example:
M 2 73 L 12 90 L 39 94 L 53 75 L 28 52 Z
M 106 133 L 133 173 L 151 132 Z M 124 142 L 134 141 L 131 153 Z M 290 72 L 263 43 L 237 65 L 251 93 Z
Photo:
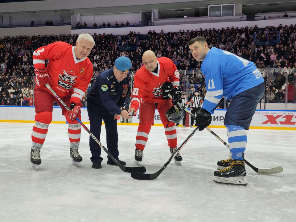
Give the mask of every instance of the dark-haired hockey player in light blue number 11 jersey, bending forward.
M 224 97 L 232 100 L 225 114 L 229 159 L 217 162 L 216 183 L 247 185 L 244 152 L 247 133 L 257 104 L 264 92 L 264 79 L 255 64 L 228 51 L 208 48 L 204 37 L 197 36 L 188 43 L 192 56 L 202 61 L 207 93 L 204 106 L 196 115 L 199 131 L 211 124 L 213 109 Z

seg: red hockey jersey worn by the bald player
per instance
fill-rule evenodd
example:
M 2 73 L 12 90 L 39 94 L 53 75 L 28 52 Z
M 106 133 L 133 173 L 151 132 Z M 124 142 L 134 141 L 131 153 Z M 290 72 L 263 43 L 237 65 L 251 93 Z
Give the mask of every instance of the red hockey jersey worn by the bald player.
M 148 71 L 142 66 L 135 74 L 134 89 L 131 95 L 131 108 L 138 110 L 142 101 L 159 103 L 162 97 L 162 84 L 171 82 L 174 87 L 179 85 L 179 72 L 172 60 L 161 57 L 157 59 L 157 73 Z

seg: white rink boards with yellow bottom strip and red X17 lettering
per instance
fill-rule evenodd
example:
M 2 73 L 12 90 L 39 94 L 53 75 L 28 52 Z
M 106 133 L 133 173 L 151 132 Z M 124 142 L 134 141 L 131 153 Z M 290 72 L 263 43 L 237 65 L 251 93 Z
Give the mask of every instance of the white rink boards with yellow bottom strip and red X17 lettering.
M 224 116 L 227 109 L 217 109 L 212 115 L 211 127 L 224 127 Z M 65 123 L 60 107 L 53 107 L 52 123 Z M 0 106 L 0 122 L 35 122 L 34 106 Z M 81 109 L 82 121 L 89 123 L 86 107 Z M 139 112 L 133 117 L 132 123 L 121 123 L 118 117 L 118 124 L 139 124 Z M 155 110 L 154 125 L 162 126 L 158 111 Z M 256 110 L 251 128 L 273 129 L 273 130 L 296 130 L 296 110 Z

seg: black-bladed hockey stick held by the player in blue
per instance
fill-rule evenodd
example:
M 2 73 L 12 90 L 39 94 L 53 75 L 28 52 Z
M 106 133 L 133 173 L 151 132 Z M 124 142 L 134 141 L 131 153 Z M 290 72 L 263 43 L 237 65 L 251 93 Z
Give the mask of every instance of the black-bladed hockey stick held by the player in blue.
M 170 95 L 169 95 L 170 96 Z M 219 102 L 218 105 L 220 105 L 220 103 L 224 100 L 224 98 L 222 98 Z M 218 107 L 218 105 L 215 107 L 215 109 Z M 214 109 L 214 110 L 215 110 Z M 185 139 L 185 141 L 181 144 L 181 146 L 179 146 L 178 150 L 167 160 L 167 162 L 156 172 L 153 174 L 144 174 L 144 173 L 138 173 L 138 172 L 132 172 L 130 175 L 132 178 L 134 179 L 138 179 L 138 180 L 154 180 L 156 179 L 161 173 L 162 171 L 164 171 L 164 169 L 169 165 L 169 163 L 171 162 L 171 160 L 173 158 L 175 158 L 175 156 L 179 153 L 179 151 L 185 146 L 185 144 L 191 139 L 191 137 L 193 136 L 193 134 L 195 134 L 195 132 L 198 130 L 198 126 L 191 132 L 191 134 L 189 134 L 189 136 Z

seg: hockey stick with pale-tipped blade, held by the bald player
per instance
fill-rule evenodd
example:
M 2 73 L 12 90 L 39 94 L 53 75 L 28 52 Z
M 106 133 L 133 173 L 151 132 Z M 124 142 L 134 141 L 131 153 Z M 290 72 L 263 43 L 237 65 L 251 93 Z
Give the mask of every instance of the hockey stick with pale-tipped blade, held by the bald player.
M 171 97 L 171 95 L 168 95 L 169 97 Z M 186 109 L 181 103 L 178 102 L 178 105 L 180 107 L 182 107 L 182 109 L 184 109 L 187 113 L 189 113 L 192 117 L 195 118 L 195 115 L 193 115 L 193 113 L 191 113 L 188 109 Z M 215 134 L 210 128 L 206 128 L 212 135 L 214 135 L 220 142 L 222 142 L 228 149 L 229 149 L 229 145 L 223 140 L 221 139 L 217 134 Z M 277 174 L 277 173 L 281 173 L 283 171 L 283 167 L 275 167 L 275 168 L 271 168 L 271 169 L 259 169 L 257 167 L 254 167 L 251 163 L 249 163 L 246 159 L 245 159 L 245 163 L 251 167 L 256 173 L 258 174 L 263 174 L 263 175 L 271 175 L 271 174 Z

